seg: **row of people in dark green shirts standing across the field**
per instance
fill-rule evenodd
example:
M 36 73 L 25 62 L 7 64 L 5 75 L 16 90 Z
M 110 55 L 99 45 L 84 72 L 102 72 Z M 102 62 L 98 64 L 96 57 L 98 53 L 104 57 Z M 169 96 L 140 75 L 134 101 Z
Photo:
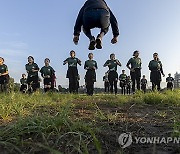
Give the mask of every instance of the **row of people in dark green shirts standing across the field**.
M 81 66 L 81 60 L 76 57 L 75 51 L 70 52 L 70 57 L 64 60 L 63 65 L 68 64 L 68 70 L 66 78 L 69 79 L 69 92 L 78 93 L 80 75 L 78 73 L 77 66 Z M 133 57 L 130 58 L 126 64 L 127 68 L 130 70 L 130 75 L 126 75 L 125 70 L 118 76 L 117 67 L 122 66 L 121 62 L 116 59 L 115 54 L 110 54 L 110 59 L 104 63 L 104 67 L 108 67 L 108 71 L 103 77 L 105 92 L 117 94 L 117 83 L 120 81 L 121 93 L 130 94 L 134 93 L 135 89 L 143 90 L 146 92 L 147 79 L 145 75 L 141 78 L 141 67 L 142 61 L 139 57 L 139 51 L 134 51 Z M 160 90 L 160 83 L 162 81 L 161 76 L 165 76 L 163 72 L 162 63 L 158 57 L 158 53 L 153 54 L 153 60 L 149 62 L 150 70 L 150 81 L 152 82 L 152 90 Z M 20 79 L 22 92 L 34 92 L 40 88 L 41 79 L 38 76 L 38 72 L 41 73 L 44 83 L 44 91 L 53 90 L 56 86 L 56 76 L 55 70 L 50 66 L 50 59 L 46 58 L 44 60 L 44 66 L 40 69 L 39 66 L 34 62 L 32 56 L 28 57 L 28 63 L 25 65 L 27 71 L 26 74 L 22 74 Z M 85 74 L 85 85 L 86 92 L 88 95 L 93 95 L 94 83 L 96 82 L 96 70 L 98 69 L 97 62 L 93 59 L 93 53 L 88 54 L 88 60 L 84 63 Z M 4 64 L 4 59 L 0 57 L 0 88 L 1 91 L 7 89 L 7 83 L 9 80 L 8 67 Z M 173 78 L 171 74 L 166 78 L 167 88 L 173 88 Z

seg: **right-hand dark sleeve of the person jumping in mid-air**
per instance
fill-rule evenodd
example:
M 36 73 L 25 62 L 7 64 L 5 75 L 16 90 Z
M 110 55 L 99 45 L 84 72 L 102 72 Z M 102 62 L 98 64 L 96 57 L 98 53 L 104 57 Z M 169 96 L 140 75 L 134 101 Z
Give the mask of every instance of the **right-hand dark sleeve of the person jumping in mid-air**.
M 116 17 L 114 16 L 114 14 L 112 13 L 112 11 L 110 9 L 109 9 L 109 12 L 110 12 L 110 23 L 111 23 L 113 36 L 117 37 L 117 36 L 119 36 L 118 22 L 116 20 Z

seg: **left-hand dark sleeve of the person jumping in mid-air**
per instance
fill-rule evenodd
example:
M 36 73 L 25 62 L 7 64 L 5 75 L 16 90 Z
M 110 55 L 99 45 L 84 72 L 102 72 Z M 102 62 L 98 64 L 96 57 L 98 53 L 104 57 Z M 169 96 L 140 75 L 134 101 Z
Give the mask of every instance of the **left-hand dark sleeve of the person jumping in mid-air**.
M 79 36 L 81 32 L 81 27 L 83 25 L 83 12 L 84 12 L 84 6 L 79 11 L 78 17 L 76 19 L 76 23 L 74 26 L 74 35 Z

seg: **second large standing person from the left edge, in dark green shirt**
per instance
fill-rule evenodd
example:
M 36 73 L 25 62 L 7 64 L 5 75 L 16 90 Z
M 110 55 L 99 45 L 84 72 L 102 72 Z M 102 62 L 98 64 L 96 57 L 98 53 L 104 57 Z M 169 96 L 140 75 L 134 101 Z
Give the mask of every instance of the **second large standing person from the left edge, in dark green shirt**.
M 28 57 L 28 63 L 25 65 L 25 67 L 28 73 L 28 77 L 27 77 L 28 91 L 29 92 L 36 91 L 38 89 L 39 67 L 34 62 L 34 58 L 32 56 Z

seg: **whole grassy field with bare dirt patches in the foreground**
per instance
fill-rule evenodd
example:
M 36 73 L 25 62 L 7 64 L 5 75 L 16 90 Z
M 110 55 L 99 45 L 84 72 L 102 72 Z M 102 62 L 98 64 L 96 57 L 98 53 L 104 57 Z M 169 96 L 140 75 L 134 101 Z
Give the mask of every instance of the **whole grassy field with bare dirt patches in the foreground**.
M 135 144 L 118 137 L 180 137 L 180 90 L 131 96 L 0 94 L 0 153 L 180 153 L 179 144 Z

